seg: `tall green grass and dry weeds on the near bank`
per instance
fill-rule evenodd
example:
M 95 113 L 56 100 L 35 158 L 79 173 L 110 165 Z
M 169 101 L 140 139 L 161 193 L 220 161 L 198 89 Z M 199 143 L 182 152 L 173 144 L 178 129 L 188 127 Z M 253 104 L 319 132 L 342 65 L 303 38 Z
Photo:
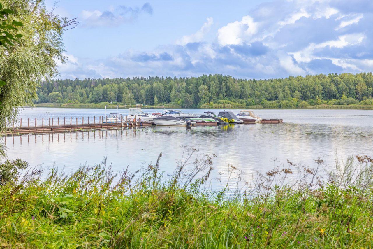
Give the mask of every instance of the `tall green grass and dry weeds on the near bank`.
M 185 148 L 172 175 L 155 165 L 114 174 L 103 162 L 42 178 L 1 181 L 0 247 L 370 248 L 373 159 L 329 173 L 288 162 L 246 182 L 229 165 L 222 189 L 214 156 Z M 325 175 L 323 178 L 322 175 Z M 235 180 L 233 180 L 235 179 Z M 240 189 L 237 189 L 240 186 Z

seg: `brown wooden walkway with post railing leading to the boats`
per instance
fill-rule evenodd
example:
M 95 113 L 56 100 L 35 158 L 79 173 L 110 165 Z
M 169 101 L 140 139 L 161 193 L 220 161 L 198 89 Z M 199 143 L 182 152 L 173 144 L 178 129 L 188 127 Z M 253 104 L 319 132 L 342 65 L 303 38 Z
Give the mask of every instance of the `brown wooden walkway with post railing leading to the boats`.
M 48 133 L 56 131 L 68 131 L 68 130 L 79 130 L 79 129 L 110 129 L 116 127 L 136 127 L 136 126 L 148 126 L 152 125 L 151 121 L 140 121 L 134 118 L 133 120 L 113 121 L 103 116 L 100 117 L 82 117 L 82 118 L 42 118 L 30 119 L 22 123 L 20 119 L 19 124 L 8 127 L 3 134 L 28 134 L 28 133 Z M 23 120 L 24 121 L 24 120 Z

